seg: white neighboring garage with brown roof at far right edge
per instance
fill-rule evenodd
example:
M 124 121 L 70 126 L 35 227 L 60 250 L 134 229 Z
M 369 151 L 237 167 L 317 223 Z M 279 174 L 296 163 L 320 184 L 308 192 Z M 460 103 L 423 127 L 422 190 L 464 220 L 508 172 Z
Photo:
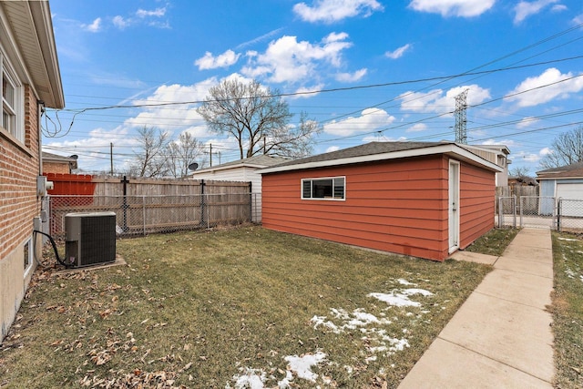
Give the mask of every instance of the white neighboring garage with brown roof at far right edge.
M 583 162 L 560 168 L 537 171 L 540 196 L 566 200 L 583 200 Z M 542 205 L 544 204 L 544 205 Z M 541 214 L 552 214 L 554 201 L 541 201 Z M 583 217 L 583 204 L 573 207 L 565 216 Z

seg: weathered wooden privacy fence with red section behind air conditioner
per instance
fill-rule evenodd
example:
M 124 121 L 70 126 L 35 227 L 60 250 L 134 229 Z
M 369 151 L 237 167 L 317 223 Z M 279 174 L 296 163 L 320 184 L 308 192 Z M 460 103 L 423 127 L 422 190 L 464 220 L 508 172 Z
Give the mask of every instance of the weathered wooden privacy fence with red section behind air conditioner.
M 254 221 L 249 182 L 93 179 L 93 195 L 49 195 L 50 233 L 70 212 L 116 212 L 118 235 L 193 230 Z

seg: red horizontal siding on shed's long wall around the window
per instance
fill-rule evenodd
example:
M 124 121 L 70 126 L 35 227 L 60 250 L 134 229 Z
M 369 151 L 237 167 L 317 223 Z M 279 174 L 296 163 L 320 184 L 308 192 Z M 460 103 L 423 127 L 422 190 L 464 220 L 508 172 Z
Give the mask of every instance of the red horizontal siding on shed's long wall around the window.
M 344 201 L 301 199 L 302 179 L 336 176 L 346 177 Z M 443 261 L 447 179 L 442 156 L 265 174 L 262 222 L 271 230 Z

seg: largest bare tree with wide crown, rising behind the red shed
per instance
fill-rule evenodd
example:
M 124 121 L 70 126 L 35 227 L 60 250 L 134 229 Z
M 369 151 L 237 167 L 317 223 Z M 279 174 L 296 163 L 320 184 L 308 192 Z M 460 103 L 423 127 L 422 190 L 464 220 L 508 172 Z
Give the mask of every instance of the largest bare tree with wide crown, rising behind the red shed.
M 227 79 L 211 87 L 209 93 L 199 114 L 213 132 L 237 139 L 240 159 L 268 151 L 292 156 L 298 150 L 310 149 L 318 126 L 304 116 L 300 126 L 290 126 L 293 115 L 288 104 L 277 97 L 278 91 L 255 80 Z

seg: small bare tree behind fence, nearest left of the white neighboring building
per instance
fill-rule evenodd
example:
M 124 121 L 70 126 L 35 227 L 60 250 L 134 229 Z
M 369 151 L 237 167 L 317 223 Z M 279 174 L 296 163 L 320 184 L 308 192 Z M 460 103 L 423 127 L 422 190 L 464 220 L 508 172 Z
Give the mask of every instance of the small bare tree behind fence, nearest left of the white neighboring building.
M 175 179 L 184 179 L 189 173 L 189 165 L 198 161 L 202 168 L 204 145 L 188 132 L 180 134 L 178 140 L 170 142 L 166 148 L 166 158 L 169 163 L 169 173 Z

